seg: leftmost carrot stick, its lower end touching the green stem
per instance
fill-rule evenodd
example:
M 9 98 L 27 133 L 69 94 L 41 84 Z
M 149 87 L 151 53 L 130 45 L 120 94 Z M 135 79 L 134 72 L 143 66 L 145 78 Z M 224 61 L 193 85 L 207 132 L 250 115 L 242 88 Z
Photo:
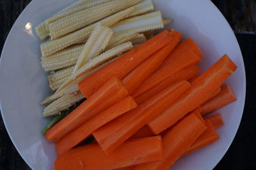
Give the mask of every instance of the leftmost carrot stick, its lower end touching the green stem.
M 49 129 L 45 136 L 48 141 L 59 141 L 63 136 L 83 125 L 100 111 L 128 96 L 122 81 L 110 78 L 97 92 L 80 104 L 67 117 Z

